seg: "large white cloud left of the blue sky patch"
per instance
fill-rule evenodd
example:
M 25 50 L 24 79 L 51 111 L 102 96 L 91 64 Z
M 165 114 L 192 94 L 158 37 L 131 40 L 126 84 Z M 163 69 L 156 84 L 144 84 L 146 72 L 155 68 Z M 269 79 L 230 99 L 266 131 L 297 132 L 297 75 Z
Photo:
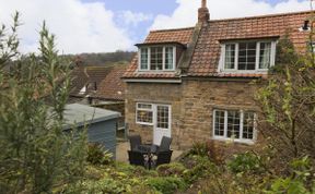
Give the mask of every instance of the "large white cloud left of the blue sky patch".
M 114 22 L 104 3 L 79 0 L 0 0 L 0 23 L 12 24 L 11 15 L 21 12 L 22 51 L 36 51 L 38 31 L 45 20 L 63 53 L 106 52 L 129 49 L 127 32 Z

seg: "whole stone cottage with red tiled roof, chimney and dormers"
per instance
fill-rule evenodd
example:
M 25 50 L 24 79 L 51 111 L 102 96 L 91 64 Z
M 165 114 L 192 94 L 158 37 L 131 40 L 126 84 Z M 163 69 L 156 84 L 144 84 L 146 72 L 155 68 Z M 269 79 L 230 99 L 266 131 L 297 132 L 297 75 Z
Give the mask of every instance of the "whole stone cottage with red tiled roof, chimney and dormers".
M 259 85 L 252 82 L 267 78 L 284 35 L 305 50 L 311 14 L 210 20 L 202 0 L 195 27 L 150 32 L 124 74 L 129 133 L 154 144 L 172 136 L 182 148 L 201 141 L 256 143 Z

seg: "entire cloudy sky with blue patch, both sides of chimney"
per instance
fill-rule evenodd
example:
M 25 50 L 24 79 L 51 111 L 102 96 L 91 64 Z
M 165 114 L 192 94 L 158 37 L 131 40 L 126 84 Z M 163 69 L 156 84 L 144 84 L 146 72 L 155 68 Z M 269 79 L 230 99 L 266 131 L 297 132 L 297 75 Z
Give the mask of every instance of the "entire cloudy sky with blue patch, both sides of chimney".
M 63 53 L 135 50 L 150 29 L 190 27 L 201 0 L 0 0 L 0 23 L 21 12 L 21 51 L 36 51 L 45 20 Z M 315 5 L 315 3 L 314 3 Z M 310 10 L 310 0 L 208 0 L 211 19 Z M 285 21 L 283 21 L 285 22 Z

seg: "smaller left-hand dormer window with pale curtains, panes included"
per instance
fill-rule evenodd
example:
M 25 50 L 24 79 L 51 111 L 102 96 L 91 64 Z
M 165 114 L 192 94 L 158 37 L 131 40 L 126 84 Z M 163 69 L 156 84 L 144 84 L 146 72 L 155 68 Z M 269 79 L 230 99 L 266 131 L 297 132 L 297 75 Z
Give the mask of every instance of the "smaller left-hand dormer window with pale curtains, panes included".
M 152 46 L 139 48 L 140 71 L 174 71 L 176 47 Z

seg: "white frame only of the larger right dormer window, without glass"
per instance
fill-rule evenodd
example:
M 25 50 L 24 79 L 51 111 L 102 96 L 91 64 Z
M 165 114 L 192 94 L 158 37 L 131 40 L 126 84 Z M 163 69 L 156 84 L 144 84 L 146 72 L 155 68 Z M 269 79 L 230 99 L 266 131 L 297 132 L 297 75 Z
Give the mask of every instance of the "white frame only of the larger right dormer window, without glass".
M 219 72 L 225 73 L 267 73 L 269 69 L 259 69 L 259 56 L 260 56 L 260 44 L 261 43 L 271 43 L 271 53 L 270 53 L 270 66 L 275 66 L 276 61 L 276 46 L 277 41 L 275 40 L 253 40 L 256 43 L 256 62 L 255 70 L 238 70 L 238 47 L 241 43 L 250 43 L 248 41 L 229 41 L 221 45 L 221 58 L 219 62 Z M 235 56 L 234 56 L 234 69 L 225 69 L 225 46 L 235 45 Z

